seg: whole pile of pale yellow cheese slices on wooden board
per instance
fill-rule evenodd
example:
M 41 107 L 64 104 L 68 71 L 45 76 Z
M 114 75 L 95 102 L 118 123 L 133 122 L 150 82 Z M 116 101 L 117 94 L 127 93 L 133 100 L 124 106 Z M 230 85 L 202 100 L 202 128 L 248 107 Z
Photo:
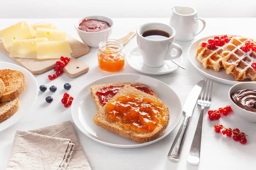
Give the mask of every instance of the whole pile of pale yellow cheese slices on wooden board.
M 67 33 L 54 23 L 29 25 L 25 21 L 0 30 L 0 39 L 10 57 L 59 59 L 71 57 Z

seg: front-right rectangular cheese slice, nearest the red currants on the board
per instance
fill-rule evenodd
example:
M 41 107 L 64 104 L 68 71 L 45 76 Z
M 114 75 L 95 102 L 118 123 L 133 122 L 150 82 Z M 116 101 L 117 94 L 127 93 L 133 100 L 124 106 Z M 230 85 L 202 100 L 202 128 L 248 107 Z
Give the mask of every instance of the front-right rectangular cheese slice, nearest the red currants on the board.
M 70 56 L 70 45 L 68 41 L 52 41 L 37 43 L 38 59 L 59 59 L 61 56 Z

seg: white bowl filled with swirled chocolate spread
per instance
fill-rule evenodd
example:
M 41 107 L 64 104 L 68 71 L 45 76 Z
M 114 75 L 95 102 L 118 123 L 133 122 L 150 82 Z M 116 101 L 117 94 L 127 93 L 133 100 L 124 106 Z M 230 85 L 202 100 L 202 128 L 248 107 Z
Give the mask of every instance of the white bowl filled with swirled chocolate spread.
M 256 123 L 256 82 L 233 85 L 228 95 L 234 113 L 246 122 Z

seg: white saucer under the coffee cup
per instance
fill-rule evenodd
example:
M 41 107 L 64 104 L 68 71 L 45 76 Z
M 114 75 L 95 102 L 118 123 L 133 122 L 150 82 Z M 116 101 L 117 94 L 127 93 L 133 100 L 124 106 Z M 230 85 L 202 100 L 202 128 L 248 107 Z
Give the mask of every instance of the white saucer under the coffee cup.
M 180 56 L 177 59 L 174 59 L 179 64 L 182 64 L 183 57 Z M 171 73 L 172 71 L 177 70 L 179 67 L 173 63 L 171 60 L 166 61 L 165 64 L 162 67 L 158 68 L 151 68 L 143 64 L 143 59 L 140 54 L 139 48 L 136 47 L 133 50 L 131 50 L 127 56 L 126 56 L 126 62 L 128 65 L 131 66 L 136 71 L 139 71 L 141 73 L 145 74 L 153 74 L 153 75 L 160 75 L 160 74 L 167 74 Z

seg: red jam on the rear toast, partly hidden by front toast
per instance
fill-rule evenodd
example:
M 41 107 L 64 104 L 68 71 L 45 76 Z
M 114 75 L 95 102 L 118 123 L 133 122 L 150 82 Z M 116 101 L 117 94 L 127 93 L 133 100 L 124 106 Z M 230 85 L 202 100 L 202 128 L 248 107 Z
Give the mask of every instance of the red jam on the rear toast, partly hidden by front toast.
M 147 87 L 140 87 L 139 85 L 136 85 L 136 84 L 131 85 L 131 86 L 134 88 L 137 88 L 138 90 L 143 91 L 147 94 L 150 94 L 150 95 L 154 94 L 153 91 L 151 91 Z M 104 106 L 123 87 L 124 87 L 124 85 L 111 85 L 111 86 L 99 89 L 96 92 L 96 95 L 99 97 L 99 102 L 102 104 L 102 106 Z

